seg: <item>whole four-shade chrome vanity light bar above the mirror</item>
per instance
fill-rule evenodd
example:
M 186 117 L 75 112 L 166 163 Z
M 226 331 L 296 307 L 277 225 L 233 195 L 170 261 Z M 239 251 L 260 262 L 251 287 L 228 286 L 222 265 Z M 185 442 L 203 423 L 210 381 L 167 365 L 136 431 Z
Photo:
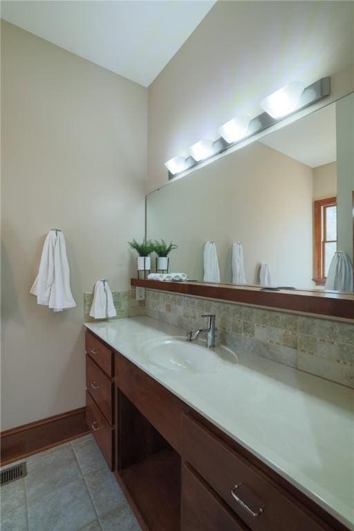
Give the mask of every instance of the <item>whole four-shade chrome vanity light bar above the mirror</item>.
M 249 138 L 264 129 L 282 120 L 285 116 L 305 109 L 324 97 L 330 95 L 330 77 L 322 77 L 315 83 L 304 86 L 301 82 L 292 82 L 276 91 L 261 101 L 263 113 L 252 120 L 241 115 L 236 116 L 229 122 L 223 124 L 218 133 L 220 138 L 212 140 L 201 140 L 189 148 L 192 156 L 171 158 L 165 162 L 169 170 L 169 179 L 174 178 L 187 169 L 191 169 L 200 164 L 206 158 L 212 158 L 218 153 L 227 151 L 238 142 Z

